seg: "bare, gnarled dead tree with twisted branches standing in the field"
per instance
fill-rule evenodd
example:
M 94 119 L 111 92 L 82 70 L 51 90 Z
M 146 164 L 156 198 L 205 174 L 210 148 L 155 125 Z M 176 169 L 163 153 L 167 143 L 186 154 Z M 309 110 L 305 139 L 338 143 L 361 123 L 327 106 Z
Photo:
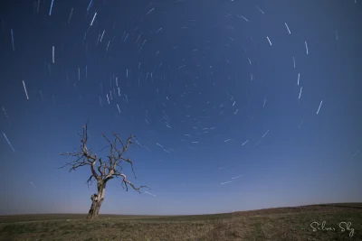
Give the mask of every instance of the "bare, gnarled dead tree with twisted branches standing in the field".
M 140 193 L 140 189 L 148 188 L 147 186 L 140 186 L 136 187 L 132 182 L 128 181 L 126 175 L 122 173 L 123 167 L 122 164 L 124 162 L 128 162 L 132 169 L 135 179 L 136 174 L 133 170 L 133 162 L 129 158 L 124 158 L 123 155 L 129 149 L 129 144 L 132 143 L 132 139 L 134 138 L 133 135 L 130 135 L 127 139 L 126 144 L 124 144 L 117 134 L 113 134 L 114 141 L 111 142 L 110 139 L 103 134 L 103 137 L 109 143 L 108 146 L 110 148 L 110 154 L 107 156 L 107 159 L 102 159 L 97 156 L 97 154 L 92 153 L 90 149 L 87 148 L 87 141 L 88 141 L 88 122 L 86 125 L 83 126 L 83 134 L 81 135 L 81 151 L 78 153 L 63 153 L 64 156 L 71 156 L 76 158 L 75 161 L 67 162 L 61 168 L 64 167 L 71 167 L 71 171 L 75 171 L 77 168 L 82 166 L 90 166 L 91 175 L 88 179 L 88 185 L 91 184 L 92 180 L 97 181 L 97 193 L 91 195 L 91 206 L 90 211 L 88 213 L 87 218 L 93 219 L 97 218 L 100 206 L 104 200 L 104 194 L 106 190 L 107 182 L 113 178 L 122 177 L 122 187 L 124 189 L 123 184 L 126 186 L 126 190 L 129 190 L 129 186 L 133 190 L 137 190 Z M 103 148 L 104 149 L 104 148 Z M 102 149 L 102 150 L 103 150 Z

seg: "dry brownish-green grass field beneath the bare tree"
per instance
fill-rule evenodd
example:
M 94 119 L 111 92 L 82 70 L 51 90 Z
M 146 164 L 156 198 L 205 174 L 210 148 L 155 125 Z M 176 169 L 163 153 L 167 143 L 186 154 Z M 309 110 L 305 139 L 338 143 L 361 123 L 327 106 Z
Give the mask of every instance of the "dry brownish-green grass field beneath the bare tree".
M 85 217 L 86 214 L 0 216 L 0 240 L 362 241 L 362 203 L 195 216 L 100 215 L 96 220 Z M 313 222 L 319 222 L 319 226 Z

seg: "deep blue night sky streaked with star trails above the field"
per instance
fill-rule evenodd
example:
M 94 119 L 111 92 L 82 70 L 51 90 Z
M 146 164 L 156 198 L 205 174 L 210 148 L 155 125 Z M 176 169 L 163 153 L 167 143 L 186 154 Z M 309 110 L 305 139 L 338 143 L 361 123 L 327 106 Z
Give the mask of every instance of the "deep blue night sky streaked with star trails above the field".
M 359 0 L 51 5 L 0 6 L 2 214 L 90 209 L 89 168 L 57 169 L 88 119 L 99 154 L 136 134 L 125 174 L 156 195 L 112 180 L 101 213 L 362 201 Z

